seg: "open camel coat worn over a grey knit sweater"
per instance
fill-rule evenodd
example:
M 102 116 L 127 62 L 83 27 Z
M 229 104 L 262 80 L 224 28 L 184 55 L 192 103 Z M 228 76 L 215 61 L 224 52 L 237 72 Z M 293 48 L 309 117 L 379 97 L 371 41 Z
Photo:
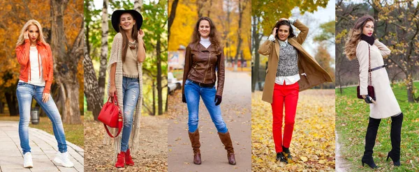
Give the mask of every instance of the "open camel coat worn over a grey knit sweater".
M 293 25 L 301 31 L 297 37 L 288 38 L 288 43 L 293 45 L 298 52 L 298 73 L 300 74 L 298 84 L 300 85 L 300 91 L 307 90 L 326 81 L 333 81 L 328 72 L 321 68 L 316 59 L 310 56 L 301 46 L 307 37 L 307 33 L 309 33 L 309 28 L 298 19 Z M 268 56 L 262 100 L 269 103 L 272 103 L 272 95 L 274 93 L 275 77 L 277 75 L 279 61 L 279 48 L 278 40 L 274 42 L 266 40 L 258 49 L 259 54 Z

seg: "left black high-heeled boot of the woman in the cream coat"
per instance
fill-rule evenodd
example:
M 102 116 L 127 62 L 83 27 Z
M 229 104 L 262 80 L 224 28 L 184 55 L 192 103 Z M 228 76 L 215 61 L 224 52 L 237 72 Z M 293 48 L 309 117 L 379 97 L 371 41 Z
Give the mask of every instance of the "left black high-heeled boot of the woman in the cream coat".
M 365 136 L 365 151 L 362 156 L 362 166 L 364 163 L 369 165 L 372 169 L 378 168 L 374 163 L 372 153 L 375 146 L 375 140 L 377 137 L 378 126 L 380 126 L 381 119 L 374 119 L 369 117 L 369 123 L 367 128 L 367 135 Z

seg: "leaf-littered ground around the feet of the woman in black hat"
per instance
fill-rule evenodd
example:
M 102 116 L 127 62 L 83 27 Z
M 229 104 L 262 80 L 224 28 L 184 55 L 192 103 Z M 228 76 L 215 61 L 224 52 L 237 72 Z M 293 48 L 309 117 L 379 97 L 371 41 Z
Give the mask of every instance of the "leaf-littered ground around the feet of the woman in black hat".
M 112 146 L 103 145 L 103 124 L 84 122 L 84 171 L 167 171 L 167 116 L 142 116 L 140 150 L 134 166 L 117 169 L 112 164 Z

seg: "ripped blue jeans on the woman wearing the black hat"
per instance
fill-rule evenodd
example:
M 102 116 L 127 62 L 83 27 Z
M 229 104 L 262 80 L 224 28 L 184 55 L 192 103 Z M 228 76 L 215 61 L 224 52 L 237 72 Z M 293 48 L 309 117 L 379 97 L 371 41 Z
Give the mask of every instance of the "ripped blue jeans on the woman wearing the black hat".
M 122 130 L 121 151 L 126 152 L 133 126 L 133 114 L 137 107 L 138 95 L 140 95 L 138 78 L 122 78 L 122 94 L 124 95 L 124 130 Z

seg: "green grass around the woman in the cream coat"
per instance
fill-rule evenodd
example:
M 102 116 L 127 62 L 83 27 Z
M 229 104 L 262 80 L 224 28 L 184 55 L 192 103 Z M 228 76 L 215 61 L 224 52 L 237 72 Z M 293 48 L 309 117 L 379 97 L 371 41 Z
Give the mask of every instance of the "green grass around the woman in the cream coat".
M 419 82 L 414 85 L 419 88 Z M 407 102 L 406 87 L 402 84 L 395 84 L 392 90 L 404 114 L 400 157 L 402 166 L 393 166 L 390 159 L 385 161 L 388 151 L 391 150 L 390 118 L 382 119 L 378 127 L 374 161 L 380 166 L 379 171 L 418 171 L 419 104 Z M 348 171 L 373 171 L 369 167 L 361 166 L 368 119 L 369 106 L 356 97 L 356 87 L 344 88 L 342 94 L 339 88 L 336 89 L 336 130 L 339 134 L 341 156 L 351 164 Z

